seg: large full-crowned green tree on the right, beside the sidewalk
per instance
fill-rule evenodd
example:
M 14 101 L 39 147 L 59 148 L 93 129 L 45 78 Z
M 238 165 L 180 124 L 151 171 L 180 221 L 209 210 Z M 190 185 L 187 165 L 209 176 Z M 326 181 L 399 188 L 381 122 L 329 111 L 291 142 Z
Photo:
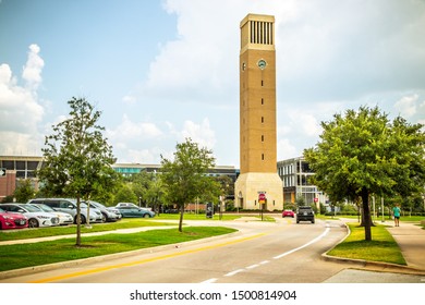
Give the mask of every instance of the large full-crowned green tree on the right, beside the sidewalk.
M 332 200 L 362 198 L 365 240 L 372 240 L 372 194 L 408 196 L 425 184 L 425 134 L 378 107 L 348 110 L 321 122 L 320 142 L 305 149 L 313 182 Z

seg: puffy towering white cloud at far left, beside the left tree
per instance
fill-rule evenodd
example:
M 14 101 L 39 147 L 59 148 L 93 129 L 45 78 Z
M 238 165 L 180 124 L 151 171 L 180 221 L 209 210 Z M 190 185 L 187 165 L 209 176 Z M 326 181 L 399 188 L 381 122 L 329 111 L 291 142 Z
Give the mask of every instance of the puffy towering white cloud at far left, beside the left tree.
M 0 151 L 2 154 L 40 155 L 44 136 L 38 123 L 44 108 L 37 99 L 41 83 L 42 59 L 36 45 L 29 47 L 28 60 L 23 71 L 26 86 L 17 85 L 9 64 L 0 65 Z

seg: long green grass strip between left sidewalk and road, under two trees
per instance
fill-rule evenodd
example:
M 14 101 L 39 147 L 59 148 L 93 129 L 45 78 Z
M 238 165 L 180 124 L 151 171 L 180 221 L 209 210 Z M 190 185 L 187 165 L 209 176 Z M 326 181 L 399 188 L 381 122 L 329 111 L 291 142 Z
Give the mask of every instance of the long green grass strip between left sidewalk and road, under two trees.
M 3 245 L 0 246 L 0 271 L 177 244 L 235 231 L 223 227 L 191 227 L 185 228 L 183 232 L 179 232 L 177 228 L 173 228 L 139 233 L 116 233 L 83 237 L 81 247 L 75 246 L 74 237 L 52 242 Z

